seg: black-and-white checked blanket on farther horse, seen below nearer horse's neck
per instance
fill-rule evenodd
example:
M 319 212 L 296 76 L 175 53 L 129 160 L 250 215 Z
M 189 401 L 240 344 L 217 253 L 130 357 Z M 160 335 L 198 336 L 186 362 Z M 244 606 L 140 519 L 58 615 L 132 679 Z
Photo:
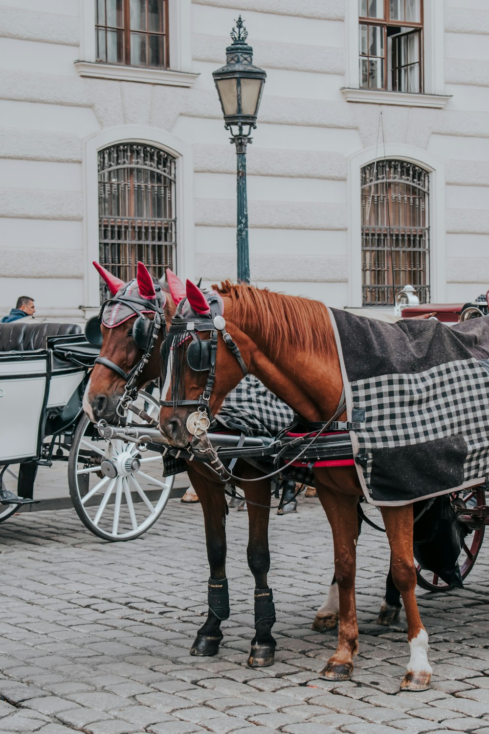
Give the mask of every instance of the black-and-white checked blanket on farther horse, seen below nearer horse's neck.
M 211 430 L 219 432 L 224 428 L 243 432 L 246 436 L 276 436 L 292 423 L 293 418 L 292 408 L 249 374 L 226 396 Z M 169 476 L 185 471 L 187 465 L 183 459 L 164 457 L 163 467 L 163 476 Z M 300 472 L 298 470 L 297 474 Z

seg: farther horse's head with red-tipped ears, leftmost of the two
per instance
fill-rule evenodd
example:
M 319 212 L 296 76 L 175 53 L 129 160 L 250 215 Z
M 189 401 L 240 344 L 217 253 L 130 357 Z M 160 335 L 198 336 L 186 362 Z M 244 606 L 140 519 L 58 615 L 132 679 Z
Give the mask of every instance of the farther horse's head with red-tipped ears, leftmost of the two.
M 165 290 L 153 283 L 141 262 L 136 278 L 129 283 L 114 277 L 98 263 L 94 265 L 109 286 L 111 299 L 103 304 L 100 316 L 87 321 L 87 338 L 93 344 L 100 344 L 101 349 L 83 405 L 92 421 L 103 418 L 108 423 L 117 423 L 120 421 L 117 407 L 129 381 L 138 389 L 160 376 L 160 349 L 174 305 L 172 299 L 166 298 Z M 161 319 L 161 328 L 155 333 L 156 314 Z M 147 361 L 141 363 L 146 355 Z M 134 374 L 139 365 L 141 370 Z

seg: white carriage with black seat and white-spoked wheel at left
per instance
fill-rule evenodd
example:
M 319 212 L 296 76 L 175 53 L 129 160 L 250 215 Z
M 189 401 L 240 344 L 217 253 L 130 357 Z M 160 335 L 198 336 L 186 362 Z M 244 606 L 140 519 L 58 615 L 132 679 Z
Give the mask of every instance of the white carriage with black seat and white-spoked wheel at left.
M 0 522 L 36 502 L 37 470 L 54 465 L 63 479 L 67 467 L 76 512 L 99 537 L 138 537 L 163 512 L 174 477 L 162 477 L 161 454 L 143 457 L 133 443 L 100 437 L 84 413 L 99 351 L 76 324 L 0 324 Z M 158 403 L 141 391 L 131 408 L 129 426 L 147 421 Z

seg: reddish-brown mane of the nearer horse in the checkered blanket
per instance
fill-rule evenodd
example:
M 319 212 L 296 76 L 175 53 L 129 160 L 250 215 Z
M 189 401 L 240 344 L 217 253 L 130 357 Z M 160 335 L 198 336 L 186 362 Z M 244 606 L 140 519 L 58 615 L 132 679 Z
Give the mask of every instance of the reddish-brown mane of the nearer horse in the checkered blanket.
M 236 285 L 230 280 L 213 288 L 231 299 L 236 323 L 252 324 L 253 330 L 266 338 L 271 352 L 277 350 L 278 353 L 287 344 L 294 349 L 326 356 L 334 354 L 334 332 L 326 306 L 320 301 L 286 296 L 244 283 Z

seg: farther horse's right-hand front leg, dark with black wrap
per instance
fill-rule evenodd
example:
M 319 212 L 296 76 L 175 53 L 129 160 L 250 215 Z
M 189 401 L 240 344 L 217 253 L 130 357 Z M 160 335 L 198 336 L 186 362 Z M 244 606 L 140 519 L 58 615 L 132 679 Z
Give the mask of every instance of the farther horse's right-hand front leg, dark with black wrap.
M 241 476 L 257 476 L 256 470 L 244 468 Z M 276 621 L 273 592 L 268 586 L 267 575 L 270 570 L 270 551 L 268 550 L 268 519 L 270 516 L 271 483 L 254 482 L 246 485 L 246 499 L 265 507 L 248 503 L 249 542 L 248 565 L 254 575 L 254 629 L 248 665 L 251 668 L 264 668 L 272 665 L 275 658 L 276 642 L 271 630 Z

